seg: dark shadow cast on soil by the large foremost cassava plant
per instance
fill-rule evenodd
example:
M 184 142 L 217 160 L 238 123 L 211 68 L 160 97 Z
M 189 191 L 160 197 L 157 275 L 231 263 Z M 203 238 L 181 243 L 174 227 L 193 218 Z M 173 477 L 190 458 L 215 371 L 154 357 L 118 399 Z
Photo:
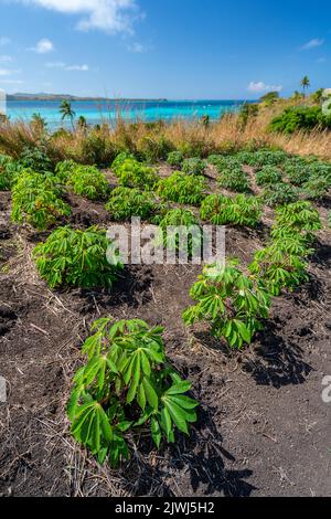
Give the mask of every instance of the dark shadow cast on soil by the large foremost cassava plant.
M 222 447 L 223 438 L 212 420 L 213 410 L 199 410 L 196 428 L 190 438 L 180 437 L 175 446 L 163 448 L 158 462 L 148 460 L 151 445 L 129 463 L 125 477 L 136 496 L 178 497 L 190 487 L 192 496 L 248 497 L 256 488 L 247 479 L 249 469 L 225 467 L 235 462 Z M 177 492 L 178 491 L 178 492 Z

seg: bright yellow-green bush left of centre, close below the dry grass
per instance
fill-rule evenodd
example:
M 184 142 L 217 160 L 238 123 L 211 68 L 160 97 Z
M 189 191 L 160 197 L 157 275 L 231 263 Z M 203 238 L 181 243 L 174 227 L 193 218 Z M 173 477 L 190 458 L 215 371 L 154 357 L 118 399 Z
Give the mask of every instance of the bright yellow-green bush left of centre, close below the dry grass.
M 125 188 L 139 188 L 146 191 L 153 189 L 159 181 L 153 168 L 149 168 L 136 159 L 126 159 L 116 167 L 115 174 Z

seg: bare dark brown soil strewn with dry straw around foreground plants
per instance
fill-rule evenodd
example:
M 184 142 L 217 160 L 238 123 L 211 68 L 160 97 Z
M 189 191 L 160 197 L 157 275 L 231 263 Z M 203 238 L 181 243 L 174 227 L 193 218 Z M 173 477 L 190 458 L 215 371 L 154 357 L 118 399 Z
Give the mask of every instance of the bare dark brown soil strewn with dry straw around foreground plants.
M 79 198 L 70 223 L 106 224 L 102 203 Z M 52 293 L 30 260 L 41 234 L 9 223 L 0 193 L 0 495 L 331 496 L 330 233 L 321 232 L 310 282 L 277 298 L 252 348 L 229 352 L 181 320 L 197 266 L 127 268 L 111 293 Z M 321 208 L 323 213 L 323 208 Z M 323 214 L 322 214 L 323 215 Z M 228 229 L 226 250 L 247 263 L 265 231 Z M 99 316 L 164 326 L 167 352 L 201 402 L 191 438 L 157 453 L 149 441 L 119 472 L 72 439 L 65 416 L 81 345 Z

